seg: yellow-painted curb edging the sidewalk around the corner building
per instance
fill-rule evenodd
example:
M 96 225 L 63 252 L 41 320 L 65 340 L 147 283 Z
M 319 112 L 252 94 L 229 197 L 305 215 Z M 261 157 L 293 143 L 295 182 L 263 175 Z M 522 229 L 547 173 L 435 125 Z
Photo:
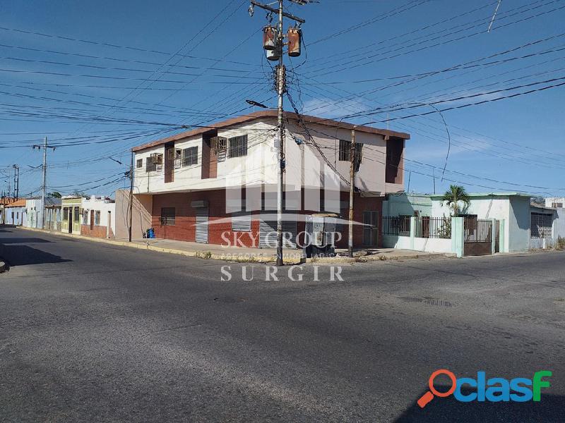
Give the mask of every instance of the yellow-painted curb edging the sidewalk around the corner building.
M 19 228 L 25 229 L 25 231 L 35 231 L 42 233 L 49 233 L 51 235 L 66 236 L 69 238 L 80 238 L 82 240 L 89 240 L 95 243 L 106 243 L 111 245 L 120 245 L 123 247 L 137 248 L 138 250 L 151 250 L 157 252 L 167 252 L 169 254 L 184 255 L 185 257 L 197 257 L 201 259 L 213 259 L 213 260 L 223 260 L 227 262 L 242 262 L 242 263 L 274 263 L 275 257 L 266 256 L 251 256 L 248 254 L 238 255 L 237 253 L 226 253 L 226 254 L 215 254 L 210 251 L 185 251 L 185 250 L 175 250 L 174 248 L 164 248 L 155 247 L 153 245 L 141 245 L 137 243 L 129 243 L 127 241 L 117 241 L 108 240 L 106 238 L 93 238 L 85 235 L 78 235 L 73 233 L 64 232 L 54 232 L 45 231 L 39 228 L 26 228 L 20 226 Z M 428 255 L 410 255 L 410 256 L 382 256 L 382 255 L 370 255 L 370 256 L 360 256 L 360 257 L 314 257 L 311 259 L 306 259 L 306 263 L 319 263 L 319 264 L 352 264 L 352 263 L 367 263 L 367 262 L 379 262 L 388 260 L 403 260 L 403 259 L 425 259 L 425 258 L 436 258 L 436 257 L 448 257 L 445 254 L 428 254 Z M 285 264 L 304 264 L 304 259 L 299 257 L 299 254 L 295 257 L 285 257 Z

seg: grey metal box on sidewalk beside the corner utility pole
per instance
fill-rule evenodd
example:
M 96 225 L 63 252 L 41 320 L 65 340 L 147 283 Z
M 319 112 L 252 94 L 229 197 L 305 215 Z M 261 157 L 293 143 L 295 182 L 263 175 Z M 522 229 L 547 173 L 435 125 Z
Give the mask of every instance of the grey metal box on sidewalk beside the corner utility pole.
M 316 213 L 306 216 L 306 242 L 304 255 L 311 257 L 335 256 L 335 230 L 338 215 L 333 213 Z

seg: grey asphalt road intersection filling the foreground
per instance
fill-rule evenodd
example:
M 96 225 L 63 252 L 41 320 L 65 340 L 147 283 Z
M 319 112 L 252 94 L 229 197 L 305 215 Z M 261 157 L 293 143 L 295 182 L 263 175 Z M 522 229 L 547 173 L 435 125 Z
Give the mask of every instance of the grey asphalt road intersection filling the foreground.
M 242 281 L 241 264 L 22 229 L 0 244 L 1 422 L 565 421 L 564 253 Z M 553 374 L 537 403 L 420 409 L 441 368 Z

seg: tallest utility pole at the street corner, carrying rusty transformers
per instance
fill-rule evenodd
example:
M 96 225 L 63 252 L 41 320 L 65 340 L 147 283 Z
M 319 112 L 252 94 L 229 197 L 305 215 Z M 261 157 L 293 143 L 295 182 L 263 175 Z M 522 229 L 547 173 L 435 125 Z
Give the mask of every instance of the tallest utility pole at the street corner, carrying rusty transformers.
M 290 0 L 297 4 L 307 4 L 309 0 Z M 275 30 L 274 27 L 266 26 L 263 30 L 263 48 L 268 50 L 270 54 L 267 59 L 271 61 L 278 61 L 276 70 L 276 87 L 278 94 L 278 168 L 277 168 L 277 266 L 283 266 L 283 176 L 285 172 L 285 126 L 284 126 L 284 109 L 283 109 L 283 95 L 285 94 L 285 64 L 283 62 L 283 46 L 285 45 L 285 34 L 283 34 L 283 16 L 295 20 L 297 23 L 305 23 L 304 19 L 297 18 L 290 13 L 283 11 L 284 0 L 278 0 L 278 9 L 275 9 L 267 4 L 259 3 L 258 1 L 251 0 L 249 6 L 249 14 L 253 16 L 254 6 L 260 7 L 270 13 L 278 14 L 278 25 Z M 290 30 L 289 30 L 290 34 Z M 301 35 L 299 29 L 292 32 L 293 39 L 289 36 L 288 54 L 289 56 L 299 56 L 300 54 L 300 39 Z M 296 40 L 298 42 L 296 43 Z M 291 45 L 292 44 L 292 45 Z

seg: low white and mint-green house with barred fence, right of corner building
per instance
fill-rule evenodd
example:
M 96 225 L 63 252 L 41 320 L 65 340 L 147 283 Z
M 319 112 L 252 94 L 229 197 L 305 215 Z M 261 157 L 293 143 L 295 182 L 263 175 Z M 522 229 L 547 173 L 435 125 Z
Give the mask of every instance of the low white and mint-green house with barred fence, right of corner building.
M 451 216 L 452 209 L 442 197 L 405 193 L 388 195 L 383 204 L 384 245 L 453 252 L 454 244 L 444 239 L 463 235 L 462 247 L 469 247 L 468 255 L 474 255 L 473 252 L 523 252 L 552 247 L 559 236 L 565 237 L 562 233 L 565 213 L 534 206 L 530 204 L 532 195 L 522 192 L 469 194 L 469 204 L 458 204 L 458 216 L 463 218 L 461 234 L 453 233 L 451 223 L 445 219 Z M 483 249 L 472 250 L 471 247 Z

